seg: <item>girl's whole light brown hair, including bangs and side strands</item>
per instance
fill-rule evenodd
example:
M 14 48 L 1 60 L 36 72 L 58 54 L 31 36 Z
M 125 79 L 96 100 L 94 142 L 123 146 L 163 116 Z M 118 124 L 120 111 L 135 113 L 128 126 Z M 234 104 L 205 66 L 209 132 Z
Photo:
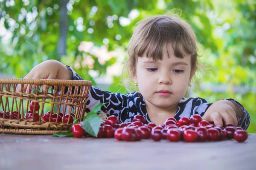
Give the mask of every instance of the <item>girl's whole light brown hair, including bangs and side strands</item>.
M 169 15 L 145 18 L 138 23 L 128 44 L 129 57 L 125 63 L 129 76 L 127 82 L 132 82 L 136 76 L 137 59 L 144 55 L 154 60 L 162 60 L 163 53 L 170 56 L 172 52 L 178 58 L 190 54 L 193 74 L 199 66 L 197 51 L 197 38 L 185 20 Z

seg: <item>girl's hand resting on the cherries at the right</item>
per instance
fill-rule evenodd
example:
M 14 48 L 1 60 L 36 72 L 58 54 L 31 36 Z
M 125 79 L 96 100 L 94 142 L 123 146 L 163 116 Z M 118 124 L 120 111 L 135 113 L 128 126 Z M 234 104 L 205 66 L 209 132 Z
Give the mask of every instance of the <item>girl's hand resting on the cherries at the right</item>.
M 213 103 L 204 113 L 202 118 L 208 122 L 214 122 L 215 125 L 223 126 L 224 121 L 226 125 L 232 124 L 237 126 L 238 119 L 234 107 L 238 106 L 235 106 L 233 102 L 228 100 L 220 100 Z

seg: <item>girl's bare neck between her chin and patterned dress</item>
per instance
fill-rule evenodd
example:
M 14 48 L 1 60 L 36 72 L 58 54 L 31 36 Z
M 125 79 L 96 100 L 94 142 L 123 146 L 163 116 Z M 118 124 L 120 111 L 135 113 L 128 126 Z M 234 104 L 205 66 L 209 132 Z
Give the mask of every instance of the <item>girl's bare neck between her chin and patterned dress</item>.
M 173 105 L 168 108 L 159 108 L 146 100 L 145 105 L 149 119 L 156 125 L 163 124 L 166 119 L 174 117 L 178 109 L 178 105 Z

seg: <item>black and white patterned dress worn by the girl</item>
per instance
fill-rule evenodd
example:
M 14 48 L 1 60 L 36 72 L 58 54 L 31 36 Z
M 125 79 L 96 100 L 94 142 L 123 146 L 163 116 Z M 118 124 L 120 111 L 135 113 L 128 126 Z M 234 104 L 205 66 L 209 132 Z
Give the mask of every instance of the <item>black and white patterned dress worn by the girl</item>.
M 84 80 L 70 66 L 66 65 L 66 67 L 72 71 L 71 80 Z M 243 116 L 239 118 L 239 126 L 246 130 L 250 125 L 250 115 L 248 111 L 236 100 L 227 100 L 236 102 L 236 104 L 239 105 L 243 110 Z M 85 111 L 88 113 L 95 105 L 106 102 L 108 103 L 103 105 L 101 108 L 102 113 L 106 113 L 107 111 L 107 116 L 117 116 L 119 122 L 131 122 L 133 116 L 137 114 L 143 115 L 147 123 L 151 122 L 146 111 L 144 98 L 137 91 L 127 94 L 111 93 L 109 91 L 102 91 L 99 88 L 91 86 L 87 102 L 87 109 Z M 182 98 L 178 104 L 175 119 L 179 120 L 185 116 L 190 118 L 190 116 L 194 114 L 203 116 L 210 105 L 212 105 L 212 103 L 208 103 L 205 99 L 200 97 Z

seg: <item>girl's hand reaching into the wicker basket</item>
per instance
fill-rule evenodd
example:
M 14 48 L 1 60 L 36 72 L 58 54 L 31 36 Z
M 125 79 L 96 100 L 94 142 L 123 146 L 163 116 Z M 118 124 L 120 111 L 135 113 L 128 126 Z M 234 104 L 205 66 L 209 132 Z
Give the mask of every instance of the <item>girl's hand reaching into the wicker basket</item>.
M 56 60 L 47 60 L 35 66 L 24 79 L 70 79 L 72 73 L 61 62 Z M 35 85 L 32 85 L 32 89 Z M 45 92 L 46 85 L 42 86 Z M 23 93 L 29 91 L 29 86 L 24 85 Z M 17 86 L 16 92 L 21 92 L 21 85 Z

